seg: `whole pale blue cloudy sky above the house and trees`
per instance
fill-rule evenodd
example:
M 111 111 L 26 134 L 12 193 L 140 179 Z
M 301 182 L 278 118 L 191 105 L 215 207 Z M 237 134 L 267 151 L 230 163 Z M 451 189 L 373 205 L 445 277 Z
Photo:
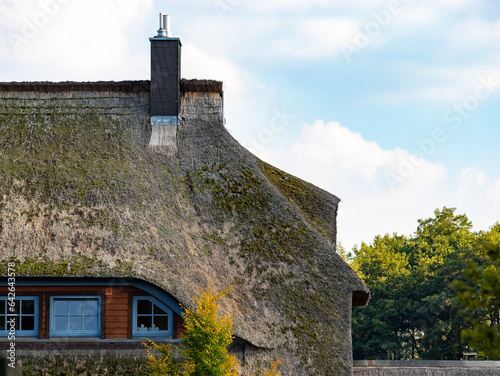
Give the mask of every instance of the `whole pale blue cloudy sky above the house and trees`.
M 159 12 L 233 137 L 341 199 L 346 249 L 500 220 L 500 1 L 0 0 L 0 81 L 149 79 Z

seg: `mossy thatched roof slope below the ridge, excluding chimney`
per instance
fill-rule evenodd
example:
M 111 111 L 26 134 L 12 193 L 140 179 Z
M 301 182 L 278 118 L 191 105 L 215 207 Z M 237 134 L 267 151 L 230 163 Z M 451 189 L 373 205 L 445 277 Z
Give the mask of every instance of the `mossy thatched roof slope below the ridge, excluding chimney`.
M 169 156 L 146 146 L 147 116 L 11 100 L 0 248 L 19 275 L 133 276 L 188 306 L 232 285 L 237 336 L 279 349 L 284 374 L 350 372 L 351 294 L 369 292 L 335 253 L 338 198 L 260 161 L 222 119 L 184 119 Z

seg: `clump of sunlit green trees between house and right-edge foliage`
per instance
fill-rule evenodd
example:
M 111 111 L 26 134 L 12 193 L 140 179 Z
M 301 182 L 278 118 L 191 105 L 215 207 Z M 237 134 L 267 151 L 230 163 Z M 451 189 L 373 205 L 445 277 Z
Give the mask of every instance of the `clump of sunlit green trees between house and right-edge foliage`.
M 475 234 L 465 215 L 445 207 L 419 220 L 412 237 L 387 234 L 355 248 L 350 264 L 372 299 L 353 312 L 354 358 L 460 359 L 471 339 L 461 332 L 476 311 L 463 310 L 454 281 L 465 283 L 469 263 L 488 265 L 479 245 L 492 231 Z

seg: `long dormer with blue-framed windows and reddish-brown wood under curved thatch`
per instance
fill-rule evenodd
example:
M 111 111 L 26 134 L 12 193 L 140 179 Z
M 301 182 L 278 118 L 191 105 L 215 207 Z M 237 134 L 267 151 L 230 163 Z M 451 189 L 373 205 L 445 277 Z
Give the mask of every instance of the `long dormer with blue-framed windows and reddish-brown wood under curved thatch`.
M 15 296 L 7 286 L 0 286 L 0 336 L 4 338 L 12 330 L 16 337 L 40 340 L 167 341 L 183 335 L 182 323 L 179 303 L 141 280 L 80 279 L 74 283 L 70 278 L 26 277 L 16 283 Z

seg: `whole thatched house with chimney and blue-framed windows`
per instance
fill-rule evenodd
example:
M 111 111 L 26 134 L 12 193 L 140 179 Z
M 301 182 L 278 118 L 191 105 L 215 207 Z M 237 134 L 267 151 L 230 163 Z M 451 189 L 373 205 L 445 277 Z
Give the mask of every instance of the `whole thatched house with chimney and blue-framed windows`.
M 335 252 L 339 199 L 239 145 L 222 83 L 181 79 L 162 27 L 150 43 L 151 81 L 0 84 L 0 347 L 14 315 L 25 364 L 123 371 L 210 284 L 232 286 L 242 375 L 351 374 L 370 295 Z

